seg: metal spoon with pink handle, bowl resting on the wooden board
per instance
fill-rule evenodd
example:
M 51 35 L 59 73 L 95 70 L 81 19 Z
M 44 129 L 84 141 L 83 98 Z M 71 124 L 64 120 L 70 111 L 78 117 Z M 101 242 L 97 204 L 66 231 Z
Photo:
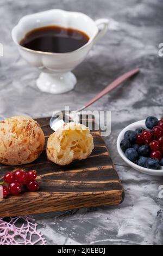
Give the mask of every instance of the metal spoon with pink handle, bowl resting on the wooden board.
M 64 123 L 70 122 L 70 120 L 73 119 L 73 114 L 77 114 L 78 112 L 86 109 L 88 106 L 92 105 L 93 103 L 97 102 L 98 99 L 102 98 L 106 93 L 112 91 L 114 88 L 116 88 L 118 85 L 122 84 L 125 80 L 128 78 L 131 78 L 131 76 L 139 73 L 139 68 L 133 69 L 123 75 L 121 75 L 119 78 L 111 82 L 110 85 L 108 85 L 102 92 L 98 93 L 97 96 L 93 97 L 89 102 L 87 102 L 84 106 L 77 110 L 73 110 L 71 112 L 54 112 L 53 116 L 49 122 L 50 127 L 52 130 L 56 131 L 59 129 Z

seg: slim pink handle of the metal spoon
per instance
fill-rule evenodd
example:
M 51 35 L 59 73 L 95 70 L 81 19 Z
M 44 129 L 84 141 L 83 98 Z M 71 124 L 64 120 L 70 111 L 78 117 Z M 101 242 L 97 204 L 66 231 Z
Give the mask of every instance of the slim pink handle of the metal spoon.
M 93 103 L 97 102 L 98 99 L 102 98 L 106 93 L 110 92 L 114 88 L 116 88 L 118 85 L 122 84 L 126 79 L 130 78 L 131 76 L 139 73 L 139 68 L 133 69 L 123 75 L 120 76 L 120 78 L 117 78 L 113 82 L 111 82 L 110 85 L 108 85 L 102 92 L 97 94 L 93 99 L 91 99 L 88 103 L 86 103 L 82 108 L 80 108 L 78 111 L 81 111 L 88 106 L 92 105 Z

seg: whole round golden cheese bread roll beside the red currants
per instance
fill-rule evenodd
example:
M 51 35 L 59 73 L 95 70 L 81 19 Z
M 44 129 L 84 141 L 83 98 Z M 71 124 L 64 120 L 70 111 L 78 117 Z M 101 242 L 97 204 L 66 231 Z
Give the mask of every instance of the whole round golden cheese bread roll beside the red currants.
M 31 163 L 40 156 L 44 145 L 42 129 L 32 118 L 14 116 L 0 122 L 0 163 Z

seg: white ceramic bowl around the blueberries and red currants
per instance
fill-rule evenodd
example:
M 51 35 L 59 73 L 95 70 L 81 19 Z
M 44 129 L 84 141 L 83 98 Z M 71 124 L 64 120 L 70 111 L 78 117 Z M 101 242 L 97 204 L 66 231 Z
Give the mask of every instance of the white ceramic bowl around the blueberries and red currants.
M 149 174 L 149 175 L 153 175 L 153 176 L 163 176 L 163 166 L 160 166 L 160 168 L 157 170 L 152 170 L 152 169 L 144 168 L 137 164 L 134 164 L 126 157 L 126 155 L 124 154 L 124 152 L 121 150 L 121 147 L 120 147 L 121 140 L 124 139 L 124 133 L 126 133 L 127 130 L 135 130 L 136 128 L 139 128 L 139 127 L 143 127 L 145 129 L 147 129 L 147 127 L 145 125 L 145 121 L 146 120 L 141 120 L 141 121 L 138 121 L 135 123 L 131 123 L 129 126 L 127 126 L 126 128 L 124 128 L 122 130 L 122 132 L 119 134 L 118 139 L 117 139 L 117 150 L 118 150 L 118 153 L 120 154 L 120 156 L 122 157 L 122 159 L 124 160 L 124 162 L 126 162 L 128 165 L 130 165 L 133 169 L 140 171 L 144 174 Z

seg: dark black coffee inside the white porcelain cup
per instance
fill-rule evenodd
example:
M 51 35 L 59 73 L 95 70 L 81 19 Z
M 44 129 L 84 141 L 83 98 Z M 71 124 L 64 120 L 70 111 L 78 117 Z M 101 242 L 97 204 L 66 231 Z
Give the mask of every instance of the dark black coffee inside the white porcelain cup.
M 79 49 L 89 39 L 87 34 L 77 29 L 47 26 L 28 32 L 20 45 L 35 51 L 65 53 Z

